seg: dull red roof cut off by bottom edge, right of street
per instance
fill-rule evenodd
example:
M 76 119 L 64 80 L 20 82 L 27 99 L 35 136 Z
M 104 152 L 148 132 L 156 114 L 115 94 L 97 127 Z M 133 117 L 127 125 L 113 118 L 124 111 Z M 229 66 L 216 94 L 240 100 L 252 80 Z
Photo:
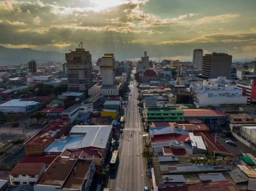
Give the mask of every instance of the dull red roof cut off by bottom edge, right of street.
M 239 191 L 234 183 L 221 180 L 210 183 L 185 184 L 179 187 L 159 188 L 159 191 Z

